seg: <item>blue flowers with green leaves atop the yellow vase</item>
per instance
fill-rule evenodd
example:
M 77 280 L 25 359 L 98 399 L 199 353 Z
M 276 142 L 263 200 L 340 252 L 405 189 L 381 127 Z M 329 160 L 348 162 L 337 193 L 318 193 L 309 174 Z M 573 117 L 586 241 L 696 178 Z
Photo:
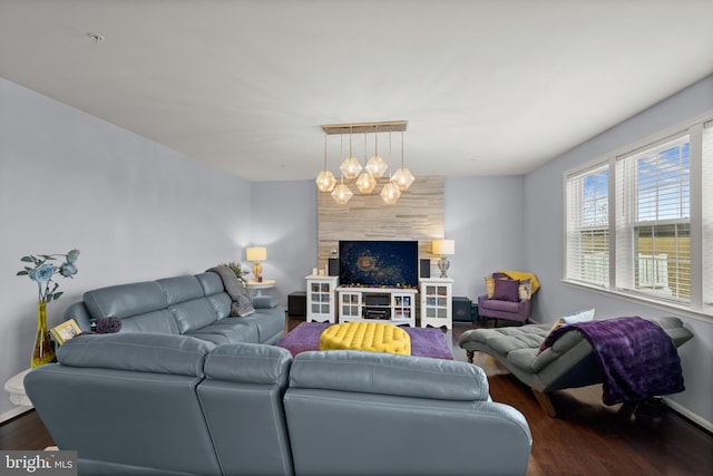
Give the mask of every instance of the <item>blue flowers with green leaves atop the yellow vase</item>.
M 56 261 L 59 258 L 64 258 L 65 261 L 61 265 L 57 266 L 51 261 Z M 37 283 L 38 299 L 39 301 L 50 302 L 58 300 L 62 295 L 59 289 L 59 283 L 55 282 L 55 274 L 59 274 L 62 278 L 72 278 L 77 274 L 77 258 L 79 258 L 79 250 L 71 250 L 67 254 L 29 254 L 20 259 L 23 263 L 32 263 L 35 266 L 25 266 L 25 270 L 18 271 L 18 276 L 29 276 Z

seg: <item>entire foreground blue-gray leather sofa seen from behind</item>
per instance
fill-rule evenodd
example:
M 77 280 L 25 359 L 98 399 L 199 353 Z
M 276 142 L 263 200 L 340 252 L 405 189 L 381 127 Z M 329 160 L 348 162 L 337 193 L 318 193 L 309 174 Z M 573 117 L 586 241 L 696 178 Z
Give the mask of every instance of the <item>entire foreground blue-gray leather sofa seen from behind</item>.
M 80 475 L 524 475 L 531 435 L 466 362 L 80 336 L 25 379 Z

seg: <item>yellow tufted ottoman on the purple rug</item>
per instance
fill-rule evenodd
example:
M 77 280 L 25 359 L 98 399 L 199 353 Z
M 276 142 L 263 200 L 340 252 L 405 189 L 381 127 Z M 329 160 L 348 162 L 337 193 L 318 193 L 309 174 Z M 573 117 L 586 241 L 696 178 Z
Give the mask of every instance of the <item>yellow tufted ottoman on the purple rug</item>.
M 343 322 L 330 326 L 320 336 L 320 350 L 336 349 L 410 356 L 411 337 L 400 327 L 383 322 Z

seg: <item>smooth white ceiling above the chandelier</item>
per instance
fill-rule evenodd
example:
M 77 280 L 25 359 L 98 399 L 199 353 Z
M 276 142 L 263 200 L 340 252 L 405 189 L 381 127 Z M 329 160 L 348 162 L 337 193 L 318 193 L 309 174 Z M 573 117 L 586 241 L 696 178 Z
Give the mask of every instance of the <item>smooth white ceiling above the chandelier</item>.
M 312 179 L 321 125 L 385 120 L 408 120 L 417 177 L 524 174 L 713 74 L 712 18 L 713 0 L 0 0 L 0 77 L 248 181 Z

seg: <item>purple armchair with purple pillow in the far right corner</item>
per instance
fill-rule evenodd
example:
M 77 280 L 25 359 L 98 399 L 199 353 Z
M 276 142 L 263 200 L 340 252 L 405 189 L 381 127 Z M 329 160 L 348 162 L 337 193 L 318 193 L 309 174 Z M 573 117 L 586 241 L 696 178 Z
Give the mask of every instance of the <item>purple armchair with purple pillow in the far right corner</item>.
M 533 309 L 530 288 L 522 289 L 521 286 L 531 286 L 530 280 L 519 281 L 510 279 L 502 272 L 497 272 L 492 273 L 492 280 L 487 279 L 486 281 L 492 285 L 492 297 L 490 299 L 487 294 L 478 297 L 478 314 L 481 318 L 496 319 L 496 326 L 497 319 L 507 319 L 519 323 L 525 323 L 529 319 Z

